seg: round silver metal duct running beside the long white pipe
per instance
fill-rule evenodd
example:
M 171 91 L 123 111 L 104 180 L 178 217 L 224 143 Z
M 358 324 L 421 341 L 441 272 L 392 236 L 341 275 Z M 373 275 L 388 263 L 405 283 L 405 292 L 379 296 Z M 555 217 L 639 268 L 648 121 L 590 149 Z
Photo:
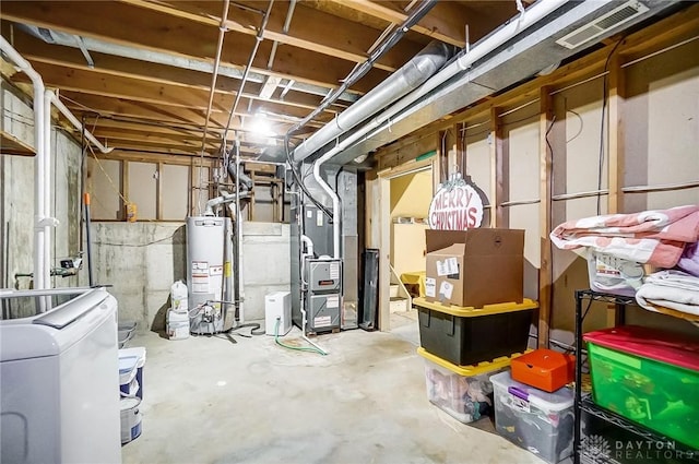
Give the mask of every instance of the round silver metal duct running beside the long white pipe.
M 298 145 L 294 150 L 294 162 L 303 162 L 328 142 L 418 87 L 437 72 L 449 58 L 451 58 L 451 47 L 440 41 L 431 41 L 405 66 Z

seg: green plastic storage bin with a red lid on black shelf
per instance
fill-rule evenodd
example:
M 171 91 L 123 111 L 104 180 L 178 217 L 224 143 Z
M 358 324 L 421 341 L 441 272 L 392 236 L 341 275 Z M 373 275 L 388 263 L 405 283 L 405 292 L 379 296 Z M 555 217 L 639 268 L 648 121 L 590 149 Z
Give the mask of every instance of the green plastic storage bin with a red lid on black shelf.
M 597 405 L 699 449 L 698 341 L 633 325 L 584 340 Z

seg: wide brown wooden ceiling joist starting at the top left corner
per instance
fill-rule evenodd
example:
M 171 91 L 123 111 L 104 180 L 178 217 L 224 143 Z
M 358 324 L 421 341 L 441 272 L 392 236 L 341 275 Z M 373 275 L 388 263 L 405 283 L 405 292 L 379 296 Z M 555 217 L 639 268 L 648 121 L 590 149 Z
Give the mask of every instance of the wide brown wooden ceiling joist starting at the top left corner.
M 69 34 L 205 60 L 213 60 L 218 31 L 217 27 L 186 19 L 103 1 L 3 2 L 2 16 L 14 22 Z M 99 17 L 99 21 L 95 21 L 95 17 Z M 125 27 L 125 24 L 129 27 Z M 132 31 L 138 31 L 138 35 Z M 256 38 L 248 34 L 227 33 L 222 51 L 222 64 L 240 67 L 241 63 L 246 63 L 254 41 Z M 260 44 L 260 51 L 253 62 L 256 72 L 277 74 L 285 79 L 333 88 L 355 66 L 354 62 L 340 58 L 281 45 L 274 68 L 266 70 L 266 57 L 271 47 L 270 40 Z M 387 75 L 386 71 L 374 69 L 354 86 L 354 90 L 366 93 Z

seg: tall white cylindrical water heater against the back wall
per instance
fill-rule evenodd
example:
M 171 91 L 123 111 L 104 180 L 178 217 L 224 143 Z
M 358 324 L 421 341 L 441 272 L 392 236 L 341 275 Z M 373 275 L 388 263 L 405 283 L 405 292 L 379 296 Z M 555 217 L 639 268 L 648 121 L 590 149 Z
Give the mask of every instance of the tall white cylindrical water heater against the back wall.
M 192 333 L 212 334 L 233 326 L 232 261 L 228 217 L 187 218 L 187 287 Z

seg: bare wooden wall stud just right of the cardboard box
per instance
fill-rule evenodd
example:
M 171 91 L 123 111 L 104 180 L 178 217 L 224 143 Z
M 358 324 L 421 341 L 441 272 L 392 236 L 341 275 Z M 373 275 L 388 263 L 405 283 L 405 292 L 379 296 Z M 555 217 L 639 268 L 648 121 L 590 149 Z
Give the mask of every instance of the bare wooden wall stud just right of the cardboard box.
M 548 142 L 548 131 L 554 123 L 553 98 L 544 86 L 540 94 L 538 153 L 540 153 L 540 253 L 538 267 L 538 346 L 548 347 L 553 295 L 552 249 L 548 234 L 552 230 L 552 171 L 553 153 Z

